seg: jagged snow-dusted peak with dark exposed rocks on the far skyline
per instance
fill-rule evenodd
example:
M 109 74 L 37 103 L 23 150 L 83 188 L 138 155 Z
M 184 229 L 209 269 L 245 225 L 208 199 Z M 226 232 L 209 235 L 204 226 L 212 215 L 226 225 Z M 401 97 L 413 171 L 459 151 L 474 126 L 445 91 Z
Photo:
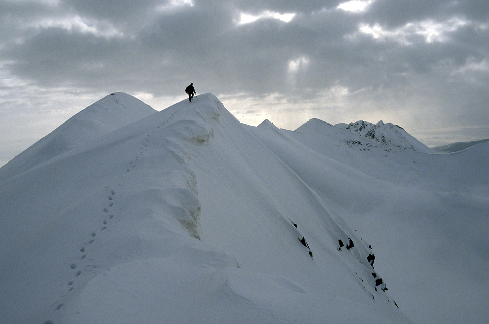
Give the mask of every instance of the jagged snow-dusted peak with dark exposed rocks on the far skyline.
M 397 146 L 412 151 L 433 153 L 433 150 L 424 145 L 416 138 L 408 134 L 402 127 L 392 123 L 384 123 L 380 120 L 377 124 L 359 120 L 356 123 L 337 124 L 337 127 L 344 127 L 352 133 L 385 146 Z

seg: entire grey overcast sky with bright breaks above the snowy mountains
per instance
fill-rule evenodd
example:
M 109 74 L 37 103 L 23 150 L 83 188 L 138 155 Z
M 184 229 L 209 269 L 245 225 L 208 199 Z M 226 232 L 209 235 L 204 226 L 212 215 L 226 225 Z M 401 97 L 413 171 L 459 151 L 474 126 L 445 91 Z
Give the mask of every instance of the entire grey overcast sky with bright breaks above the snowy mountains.
M 489 138 L 487 0 L 0 0 L 0 165 L 115 91 L 157 110 L 212 92 L 293 130 L 391 122 Z

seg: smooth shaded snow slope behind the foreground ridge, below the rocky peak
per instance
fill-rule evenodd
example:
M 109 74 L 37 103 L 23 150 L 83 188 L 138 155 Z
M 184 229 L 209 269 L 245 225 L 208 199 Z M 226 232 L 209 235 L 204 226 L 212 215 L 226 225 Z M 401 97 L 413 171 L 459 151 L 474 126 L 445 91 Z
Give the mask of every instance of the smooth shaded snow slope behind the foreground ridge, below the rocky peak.
M 250 129 L 368 237 L 413 321 L 486 322 L 489 143 L 441 155 L 376 145 L 318 119 L 295 132 Z

